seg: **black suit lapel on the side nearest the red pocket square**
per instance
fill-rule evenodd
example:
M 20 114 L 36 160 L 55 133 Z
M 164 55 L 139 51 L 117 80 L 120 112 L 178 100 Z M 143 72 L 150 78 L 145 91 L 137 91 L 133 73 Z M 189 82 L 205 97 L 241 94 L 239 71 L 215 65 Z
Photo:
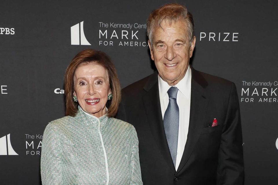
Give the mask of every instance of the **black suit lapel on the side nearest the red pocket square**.
M 189 128 L 184 152 L 176 174 L 180 173 L 180 171 L 183 169 L 194 149 L 194 146 L 204 126 L 204 119 L 209 103 L 209 95 L 205 91 L 205 87 L 207 86 L 206 80 L 192 67 L 191 71 L 192 76 Z

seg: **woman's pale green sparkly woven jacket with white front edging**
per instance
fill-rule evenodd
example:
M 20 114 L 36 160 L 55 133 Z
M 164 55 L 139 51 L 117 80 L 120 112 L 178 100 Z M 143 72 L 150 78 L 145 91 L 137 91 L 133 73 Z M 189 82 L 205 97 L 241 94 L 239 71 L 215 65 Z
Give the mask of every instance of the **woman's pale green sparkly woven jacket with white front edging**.
M 135 128 L 106 115 L 91 117 L 78 109 L 75 117 L 65 116 L 45 128 L 42 184 L 143 184 Z

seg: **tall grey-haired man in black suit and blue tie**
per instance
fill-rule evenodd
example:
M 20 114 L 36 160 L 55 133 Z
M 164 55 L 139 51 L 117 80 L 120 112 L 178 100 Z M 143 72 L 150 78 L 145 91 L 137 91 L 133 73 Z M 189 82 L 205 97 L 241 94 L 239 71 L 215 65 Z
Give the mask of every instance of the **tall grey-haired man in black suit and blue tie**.
M 243 184 L 236 87 L 189 65 L 192 15 L 166 4 L 150 14 L 147 34 L 157 71 L 122 90 L 118 112 L 138 133 L 143 183 Z

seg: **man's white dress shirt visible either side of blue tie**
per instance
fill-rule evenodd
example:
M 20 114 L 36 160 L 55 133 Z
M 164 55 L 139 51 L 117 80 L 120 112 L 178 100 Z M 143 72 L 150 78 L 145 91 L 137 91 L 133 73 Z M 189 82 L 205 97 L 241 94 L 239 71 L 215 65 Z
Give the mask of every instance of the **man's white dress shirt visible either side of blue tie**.
M 169 96 L 167 91 L 171 86 L 167 82 L 163 81 L 158 75 L 158 89 L 162 118 L 164 118 L 164 113 L 168 107 Z M 176 171 L 182 159 L 182 154 L 184 151 L 184 146 L 187 139 L 188 127 L 189 127 L 189 115 L 190 115 L 190 98 L 191 98 L 191 69 L 188 66 L 187 71 L 183 79 L 178 82 L 175 87 L 179 89 L 177 94 L 177 103 L 180 110 L 180 120 L 179 120 L 179 136 L 178 136 L 178 149 L 176 158 Z

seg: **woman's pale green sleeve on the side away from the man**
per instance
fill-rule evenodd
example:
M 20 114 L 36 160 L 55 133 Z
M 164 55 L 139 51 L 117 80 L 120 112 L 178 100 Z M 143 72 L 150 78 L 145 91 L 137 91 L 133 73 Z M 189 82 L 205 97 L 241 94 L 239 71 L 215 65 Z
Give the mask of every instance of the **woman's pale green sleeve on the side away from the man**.
M 43 133 L 41 148 L 42 185 L 61 184 L 61 140 L 56 129 L 49 123 Z

